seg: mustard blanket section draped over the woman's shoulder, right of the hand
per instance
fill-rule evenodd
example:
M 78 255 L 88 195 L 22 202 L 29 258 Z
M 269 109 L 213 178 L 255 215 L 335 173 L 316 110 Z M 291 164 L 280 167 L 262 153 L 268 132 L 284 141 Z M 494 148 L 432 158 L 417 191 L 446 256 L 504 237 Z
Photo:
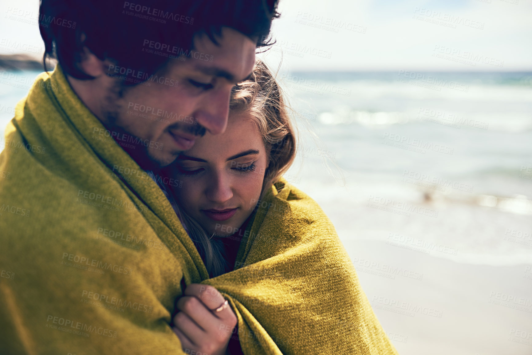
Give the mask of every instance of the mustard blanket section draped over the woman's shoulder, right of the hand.
M 245 235 L 238 267 L 203 282 L 234 301 L 244 353 L 397 354 L 309 196 L 281 179 Z

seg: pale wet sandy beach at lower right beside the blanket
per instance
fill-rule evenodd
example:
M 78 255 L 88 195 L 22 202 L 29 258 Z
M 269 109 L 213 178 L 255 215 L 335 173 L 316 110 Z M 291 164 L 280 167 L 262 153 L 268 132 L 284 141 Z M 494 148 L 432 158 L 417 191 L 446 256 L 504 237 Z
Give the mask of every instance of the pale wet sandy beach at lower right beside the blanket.
M 383 242 L 344 245 L 401 354 L 532 353 L 532 273 L 525 265 L 467 265 Z

